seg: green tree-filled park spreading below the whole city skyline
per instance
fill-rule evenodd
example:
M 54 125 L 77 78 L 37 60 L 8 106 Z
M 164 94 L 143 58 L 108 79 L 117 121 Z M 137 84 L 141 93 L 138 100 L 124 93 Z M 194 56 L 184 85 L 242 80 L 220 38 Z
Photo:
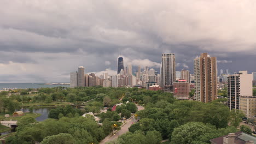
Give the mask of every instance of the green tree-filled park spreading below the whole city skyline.
M 6 143 L 100 143 L 112 131 L 121 129 L 126 124 L 124 119 L 130 117 L 139 121 L 127 133 L 107 143 L 155 144 L 168 140 L 164 143 L 204 144 L 240 130 L 252 134 L 247 126 L 240 128 L 245 115 L 238 110 L 230 111 L 225 102 L 226 98 L 207 104 L 177 100 L 172 93 L 139 88 L 18 89 L 0 93 L 0 119 L 18 120 L 16 132 L 4 137 Z M 111 111 L 119 103 L 123 104 Z M 138 111 L 136 104 L 145 109 Z M 80 106 L 83 108 L 79 109 Z M 28 107 L 30 112 L 20 117 L 4 117 L 22 107 Z M 33 113 L 33 109 L 39 107 L 53 108 L 43 122 L 34 119 L 40 114 Z M 102 112 L 104 107 L 106 112 Z M 100 121 L 91 115 L 82 117 L 88 112 L 100 117 Z M 1 126 L 0 130 L 9 128 Z

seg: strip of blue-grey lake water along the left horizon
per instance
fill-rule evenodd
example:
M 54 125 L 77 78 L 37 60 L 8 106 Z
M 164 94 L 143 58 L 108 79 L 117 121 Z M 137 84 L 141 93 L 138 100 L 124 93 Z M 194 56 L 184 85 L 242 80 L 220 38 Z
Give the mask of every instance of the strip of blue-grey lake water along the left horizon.
M 41 88 L 41 87 L 70 87 L 69 85 L 44 85 L 44 83 L 0 83 L 0 90 L 3 88 Z

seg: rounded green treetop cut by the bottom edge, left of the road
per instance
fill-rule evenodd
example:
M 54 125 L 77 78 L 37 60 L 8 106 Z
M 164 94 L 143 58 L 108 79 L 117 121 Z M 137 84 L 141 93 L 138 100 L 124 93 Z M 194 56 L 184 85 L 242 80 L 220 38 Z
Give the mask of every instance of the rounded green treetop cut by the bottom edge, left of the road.
M 44 138 L 41 144 L 73 144 L 75 143 L 74 137 L 71 134 L 57 134 L 52 136 L 47 136 Z

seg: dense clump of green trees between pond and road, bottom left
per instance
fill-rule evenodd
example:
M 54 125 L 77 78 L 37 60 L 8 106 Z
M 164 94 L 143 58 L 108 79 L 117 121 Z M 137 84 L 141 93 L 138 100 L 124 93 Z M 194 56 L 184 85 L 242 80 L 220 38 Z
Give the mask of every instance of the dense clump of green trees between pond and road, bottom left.
M 7 143 L 34 143 L 36 141 L 51 143 L 65 136 L 71 138 L 69 143 L 72 141 L 74 143 L 98 143 L 112 128 L 111 122 L 103 122 L 103 125 L 100 126 L 93 118 L 85 117 L 62 117 L 59 120 L 47 119 L 40 123 L 31 121 L 31 119 L 30 121 L 24 120 L 26 122 L 18 124 L 19 129 L 16 135 L 8 137 Z

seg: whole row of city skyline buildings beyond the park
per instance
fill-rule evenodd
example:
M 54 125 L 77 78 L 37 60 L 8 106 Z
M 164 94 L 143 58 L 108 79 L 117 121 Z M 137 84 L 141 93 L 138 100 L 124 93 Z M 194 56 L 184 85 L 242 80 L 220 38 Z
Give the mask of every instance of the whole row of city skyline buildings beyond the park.
M 133 70 L 136 68 L 136 70 Z M 135 72 L 134 72 L 135 71 Z M 134 67 L 127 64 L 124 58 L 118 57 L 117 74 L 96 76 L 94 73 L 85 74 L 85 68 L 70 74 L 71 87 L 138 87 L 152 91 L 171 92 L 181 100 L 196 100 L 209 103 L 218 98 L 218 89 L 228 87 L 228 106 L 230 110 L 243 111 L 247 117 L 256 116 L 256 97 L 252 88 L 256 86 L 256 73 L 247 71 L 230 74 L 229 70 L 220 69 L 218 75 L 217 58 L 208 53 L 201 53 L 194 59 L 194 74 L 189 70 L 176 71 L 174 53 L 162 53 L 160 74 L 153 68 Z M 190 98 L 190 91 L 194 96 Z

